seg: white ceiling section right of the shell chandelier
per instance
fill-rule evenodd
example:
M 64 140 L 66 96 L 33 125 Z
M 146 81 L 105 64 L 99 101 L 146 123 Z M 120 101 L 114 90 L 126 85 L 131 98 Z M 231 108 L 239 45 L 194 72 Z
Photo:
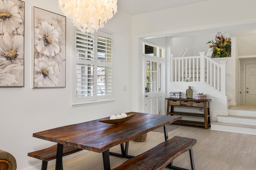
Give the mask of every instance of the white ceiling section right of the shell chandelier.
M 209 0 L 117 0 L 117 6 L 130 15 L 137 15 L 203 1 Z

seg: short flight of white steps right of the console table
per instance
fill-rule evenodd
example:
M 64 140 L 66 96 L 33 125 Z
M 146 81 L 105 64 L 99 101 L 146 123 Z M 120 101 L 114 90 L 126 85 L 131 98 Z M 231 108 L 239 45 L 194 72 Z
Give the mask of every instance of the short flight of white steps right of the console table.
M 211 130 L 256 135 L 256 110 L 229 109 L 229 115 L 218 115 Z

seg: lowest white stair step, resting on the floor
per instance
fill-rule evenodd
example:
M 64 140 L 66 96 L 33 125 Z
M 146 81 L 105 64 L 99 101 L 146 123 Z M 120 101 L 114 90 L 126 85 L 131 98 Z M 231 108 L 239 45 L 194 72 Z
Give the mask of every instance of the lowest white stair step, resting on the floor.
M 210 130 L 256 135 L 255 125 L 230 124 L 226 122 L 213 121 L 210 124 Z

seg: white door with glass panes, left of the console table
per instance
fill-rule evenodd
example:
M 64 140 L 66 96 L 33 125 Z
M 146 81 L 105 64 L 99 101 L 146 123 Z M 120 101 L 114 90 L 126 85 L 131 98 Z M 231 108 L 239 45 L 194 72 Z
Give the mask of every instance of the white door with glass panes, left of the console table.
M 162 113 L 162 62 L 154 57 L 144 58 L 145 111 Z

